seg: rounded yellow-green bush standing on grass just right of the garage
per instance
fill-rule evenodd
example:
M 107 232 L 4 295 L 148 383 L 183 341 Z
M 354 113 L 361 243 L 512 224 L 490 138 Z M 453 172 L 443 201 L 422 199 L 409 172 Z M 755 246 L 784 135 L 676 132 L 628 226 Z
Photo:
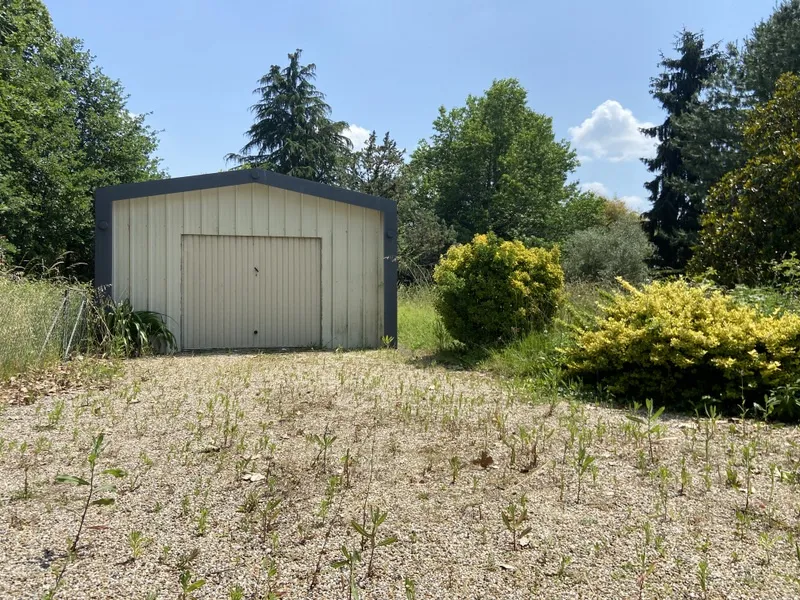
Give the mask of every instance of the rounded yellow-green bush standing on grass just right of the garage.
M 491 233 L 451 247 L 433 278 L 442 322 L 453 338 L 468 345 L 543 329 L 564 286 L 557 248 L 526 248 Z

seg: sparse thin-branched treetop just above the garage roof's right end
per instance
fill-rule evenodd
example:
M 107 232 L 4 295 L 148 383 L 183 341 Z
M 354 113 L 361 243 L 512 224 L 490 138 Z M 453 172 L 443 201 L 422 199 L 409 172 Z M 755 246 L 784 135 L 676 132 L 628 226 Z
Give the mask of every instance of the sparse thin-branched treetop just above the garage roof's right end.
M 400 176 L 405 150 L 397 147 L 387 131 L 379 144 L 373 131 L 362 150 L 345 157 L 345 172 L 340 183 L 352 190 L 397 200 L 401 193 Z

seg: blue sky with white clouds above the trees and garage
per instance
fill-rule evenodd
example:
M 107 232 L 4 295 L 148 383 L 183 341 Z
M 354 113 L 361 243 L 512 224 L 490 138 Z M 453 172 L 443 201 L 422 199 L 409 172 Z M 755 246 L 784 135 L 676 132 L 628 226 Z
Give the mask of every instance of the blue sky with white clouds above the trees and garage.
M 56 27 L 83 38 L 151 112 L 172 176 L 225 168 L 251 123 L 257 79 L 303 49 L 336 119 L 389 130 L 409 151 L 440 105 L 516 77 L 529 104 L 577 148 L 584 186 L 646 208 L 637 126 L 663 115 L 648 94 L 659 51 L 681 27 L 708 41 L 745 37 L 774 0 L 206 1 L 50 0 Z

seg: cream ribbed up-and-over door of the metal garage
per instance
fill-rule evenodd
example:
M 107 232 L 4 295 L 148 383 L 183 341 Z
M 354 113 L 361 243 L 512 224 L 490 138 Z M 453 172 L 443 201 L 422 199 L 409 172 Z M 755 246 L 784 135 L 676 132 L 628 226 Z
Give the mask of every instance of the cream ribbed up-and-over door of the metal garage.
M 184 235 L 184 349 L 321 343 L 319 238 Z

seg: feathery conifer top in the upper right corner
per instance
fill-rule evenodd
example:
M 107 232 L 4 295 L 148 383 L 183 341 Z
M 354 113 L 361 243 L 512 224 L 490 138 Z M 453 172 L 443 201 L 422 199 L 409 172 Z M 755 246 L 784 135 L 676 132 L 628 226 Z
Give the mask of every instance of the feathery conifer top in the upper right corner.
M 772 97 L 783 73 L 800 73 L 800 0 L 783 0 L 744 43 L 744 81 L 757 102 Z

